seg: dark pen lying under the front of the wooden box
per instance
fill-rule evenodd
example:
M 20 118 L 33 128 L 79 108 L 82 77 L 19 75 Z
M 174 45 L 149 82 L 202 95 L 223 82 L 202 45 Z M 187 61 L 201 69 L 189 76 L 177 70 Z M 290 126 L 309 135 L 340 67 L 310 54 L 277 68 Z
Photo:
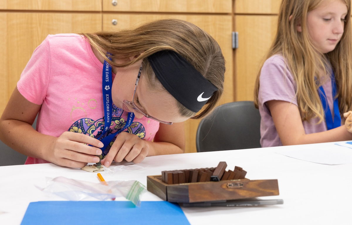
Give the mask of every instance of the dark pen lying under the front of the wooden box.
M 201 202 L 201 203 L 179 203 L 183 207 L 211 207 L 211 206 L 222 206 L 222 207 L 233 207 L 233 206 L 260 206 L 260 205 L 276 205 L 284 204 L 282 199 L 242 199 L 242 200 L 228 200 L 228 201 L 216 201 L 216 202 Z

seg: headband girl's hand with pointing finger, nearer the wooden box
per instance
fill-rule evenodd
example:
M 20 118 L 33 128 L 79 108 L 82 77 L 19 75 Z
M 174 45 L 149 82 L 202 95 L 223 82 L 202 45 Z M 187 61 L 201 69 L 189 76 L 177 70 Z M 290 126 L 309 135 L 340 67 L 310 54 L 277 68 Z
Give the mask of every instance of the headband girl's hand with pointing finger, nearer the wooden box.
M 125 159 L 127 162 L 139 163 L 142 162 L 148 153 L 148 141 L 140 139 L 135 134 L 121 132 L 116 136 L 116 140 L 101 163 L 107 167 L 110 166 L 113 160 L 121 162 Z

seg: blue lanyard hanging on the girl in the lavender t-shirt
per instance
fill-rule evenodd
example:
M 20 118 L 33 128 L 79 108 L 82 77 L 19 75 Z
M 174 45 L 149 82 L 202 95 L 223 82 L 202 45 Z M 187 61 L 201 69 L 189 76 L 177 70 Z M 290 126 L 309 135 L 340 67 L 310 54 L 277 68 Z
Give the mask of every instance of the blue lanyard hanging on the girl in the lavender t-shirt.
M 332 72 L 331 75 L 331 86 L 332 86 L 332 97 L 334 98 L 337 94 L 337 88 L 336 88 L 336 82 L 335 82 L 335 74 Z M 331 130 L 333 128 L 337 128 L 341 126 L 341 116 L 340 116 L 340 111 L 339 111 L 339 100 L 338 98 L 335 98 L 334 100 L 334 120 L 332 119 L 331 111 L 329 104 L 327 104 L 327 98 L 325 91 L 323 89 L 323 86 L 319 87 L 319 97 L 321 104 L 323 106 L 324 112 L 325 112 L 325 121 L 326 121 L 326 127 L 328 130 Z

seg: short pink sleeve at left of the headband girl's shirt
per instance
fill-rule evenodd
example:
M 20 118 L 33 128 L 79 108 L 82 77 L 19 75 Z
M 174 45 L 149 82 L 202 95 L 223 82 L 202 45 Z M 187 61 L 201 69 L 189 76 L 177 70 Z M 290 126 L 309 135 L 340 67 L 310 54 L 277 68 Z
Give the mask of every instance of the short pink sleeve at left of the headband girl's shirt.
M 21 73 L 17 89 L 28 101 L 42 104 L 50 78 L 49 36 L 33 52 L 32 57 Z

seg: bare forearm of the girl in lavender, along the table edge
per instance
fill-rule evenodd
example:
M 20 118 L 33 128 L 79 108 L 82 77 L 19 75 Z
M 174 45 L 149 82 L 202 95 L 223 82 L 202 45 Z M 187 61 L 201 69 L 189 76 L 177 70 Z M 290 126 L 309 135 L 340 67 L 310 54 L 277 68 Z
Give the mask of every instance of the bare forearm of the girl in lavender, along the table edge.
M 340 126 L 331 130 L 313 134 L 293 135 L 290 139 L 286 138 L 286 140 L 281 140 L 283 145 L 347 141 L 352 140 L 352 133 L 350 133 L 345 126 Z

